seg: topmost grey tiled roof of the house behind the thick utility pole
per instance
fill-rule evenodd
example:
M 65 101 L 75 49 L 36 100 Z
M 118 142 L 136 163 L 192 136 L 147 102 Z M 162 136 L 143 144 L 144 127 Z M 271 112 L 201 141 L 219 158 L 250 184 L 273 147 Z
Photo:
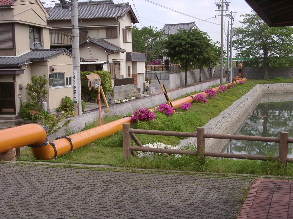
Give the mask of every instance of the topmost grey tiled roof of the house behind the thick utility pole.
M 56 3 L 53 8 L 47 11 L 50 14 L 47 20 L 71 19 L 71 8 L 63 9 L 60 3 Z M 78 2 L 79 19 L 122 17 L 127 12 L 131 16 L 132 23 L 137 23 L 137 18 L 129 3 L 114 4 L 113 1 Z

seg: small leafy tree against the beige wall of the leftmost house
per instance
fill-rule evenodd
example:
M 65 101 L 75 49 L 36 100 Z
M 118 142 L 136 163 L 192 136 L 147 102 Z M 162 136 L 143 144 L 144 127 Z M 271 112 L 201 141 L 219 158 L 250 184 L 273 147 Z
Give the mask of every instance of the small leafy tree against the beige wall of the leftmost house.
M 32 83 L 28 83 L 28 95 L 33 103 L 40 104 L 42 99 L 49 93 L 45 85 L 48 83 L 46 75 L 40 75 L 39 77 L 32 75 Z

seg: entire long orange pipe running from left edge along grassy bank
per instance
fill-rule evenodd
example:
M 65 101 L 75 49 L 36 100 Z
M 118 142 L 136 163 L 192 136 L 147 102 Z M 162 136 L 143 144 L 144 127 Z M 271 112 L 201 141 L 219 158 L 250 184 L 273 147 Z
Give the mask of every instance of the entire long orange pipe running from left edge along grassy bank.
M 238 84 L 240 81 L 244 82 L 246 80 L 246 78 L 241 78 L 237 81 L 231 82 L 230 84 Z M 224 86 L 228 86 L 228 84 L 224 84 Z M 217 91 L 219 87 L 212 89 Z M 207 96 L 204 91 L 201 93 Z M 172 104 L 174 109 L 178 109 L 182 103 L 193 102 L 193 98 L 197 94 L 173 101 Z M 122 130 L 123 123 L 131 123 L 130 117 L 118 119 L 102 126 L 97 126 L 95 128 L 75 133 L 73 135 L 67 136 L 67 138 L 59 138 L 50 143 L 47 142 L 48 133 L 44 126 L 40 126 L 38 124 L 27 124 L 13 128 L 7 128 L 0 131 L 0 153 L 13 148 L 32 145 L 37 146 L 31 147 L 33 156 L 36 159 L 50 160 L 54 157 L 59 157 L 62 154 L 66 154 L 71 150 L 86 146 L 98 138 L 107 137 L 117 133 L 119 130 Z

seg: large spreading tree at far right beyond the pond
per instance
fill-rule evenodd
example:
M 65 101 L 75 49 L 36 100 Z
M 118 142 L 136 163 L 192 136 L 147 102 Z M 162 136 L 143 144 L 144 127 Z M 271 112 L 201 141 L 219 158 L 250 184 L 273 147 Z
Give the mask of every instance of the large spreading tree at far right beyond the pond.
M 256 13 L 241 15 L 245 27 L 234 29 L 237 57 L 245 58 L 245 66 L 263 67 L 263 78 L 268 79 L 268 68 L 292 66 L 293 28 L 269 27 Z

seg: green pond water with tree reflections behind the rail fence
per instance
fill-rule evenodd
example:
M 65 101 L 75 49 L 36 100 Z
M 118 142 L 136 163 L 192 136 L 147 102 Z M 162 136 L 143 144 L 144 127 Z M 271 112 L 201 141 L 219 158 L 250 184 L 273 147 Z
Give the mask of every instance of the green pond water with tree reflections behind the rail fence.
M 293 137 L 293 102 L 260 103 L 236 135 L 279 137 L 280 131 Z M 222 152 L 278 156 L 279 143 L 232 140 Z M 293 157 L 293 144 L 288 144 L 288 157 Z

